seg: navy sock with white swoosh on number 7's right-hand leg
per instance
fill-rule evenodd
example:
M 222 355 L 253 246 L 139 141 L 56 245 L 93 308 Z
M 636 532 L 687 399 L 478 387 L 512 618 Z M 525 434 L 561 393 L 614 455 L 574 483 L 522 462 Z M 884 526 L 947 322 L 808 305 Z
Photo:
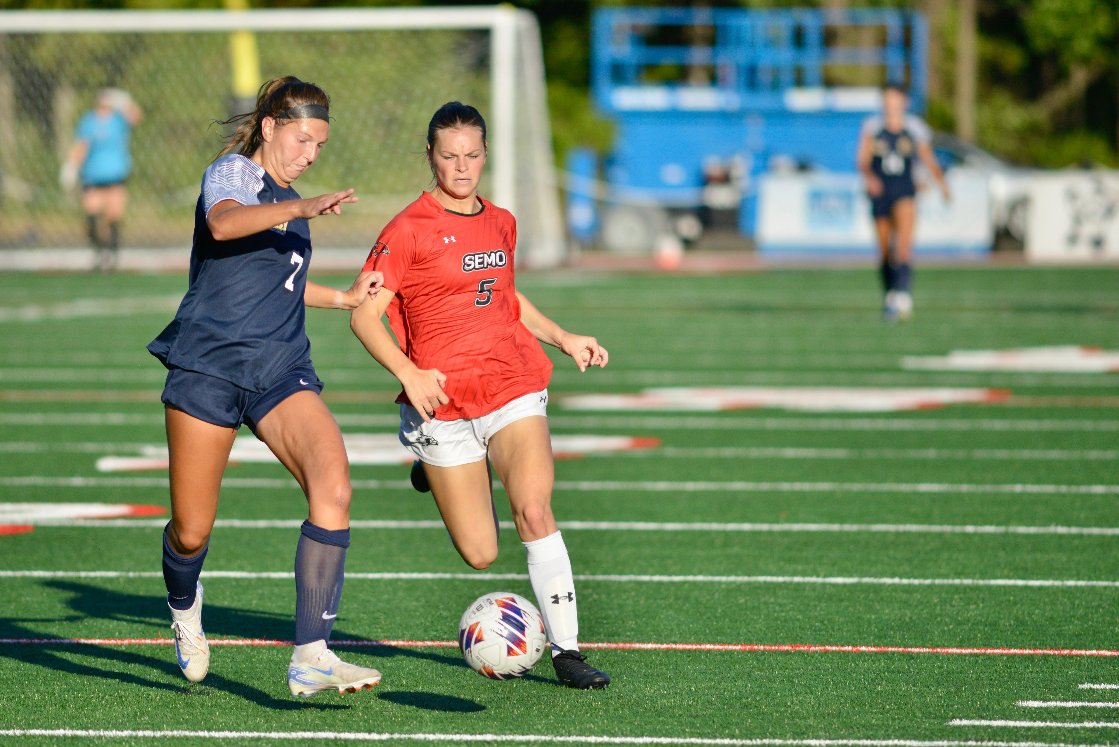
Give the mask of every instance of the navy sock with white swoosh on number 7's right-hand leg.
M 338 616 L 349 530 L 303 522 L 295 549 L 295 645 L 329 641 Z

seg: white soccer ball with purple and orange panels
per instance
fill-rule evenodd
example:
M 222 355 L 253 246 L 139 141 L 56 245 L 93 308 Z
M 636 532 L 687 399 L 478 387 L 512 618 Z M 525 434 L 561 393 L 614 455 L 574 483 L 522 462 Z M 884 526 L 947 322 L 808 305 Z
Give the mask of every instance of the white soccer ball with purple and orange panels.
M 539 610 L 511 591 L 478 597 L 459 620 L 462 657 L 491 680 L 524 676 L 540 661 L 545 637 Z

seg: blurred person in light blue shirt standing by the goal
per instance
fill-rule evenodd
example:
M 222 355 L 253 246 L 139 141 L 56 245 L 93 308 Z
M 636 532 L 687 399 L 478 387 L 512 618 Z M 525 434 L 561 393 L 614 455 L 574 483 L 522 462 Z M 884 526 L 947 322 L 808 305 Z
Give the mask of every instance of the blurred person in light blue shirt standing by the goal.
M 90 241 L 97 251 L 97 265 L 116 265 L 120 222 L 128 203 L 124 183 L 132 174 L 132 128 L 143 112 L 124 91 L 105 88 L 97 105 L 85 113 L 74 131 L 74 147 L 63 164 L 59 181 L 66 189 L 82 185 L 82 207 L 88 222 Z M 103 239 L 98 220 L 109 224 Z

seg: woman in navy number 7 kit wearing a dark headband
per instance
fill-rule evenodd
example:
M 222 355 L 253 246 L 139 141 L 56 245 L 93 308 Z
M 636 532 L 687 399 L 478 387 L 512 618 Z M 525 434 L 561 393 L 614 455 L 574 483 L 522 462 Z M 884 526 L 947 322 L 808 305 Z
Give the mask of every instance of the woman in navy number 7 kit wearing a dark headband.
M 291 470 L 309 505 L 295 551 L 292 694 L 355 692 L 380 680 L 327 648 L 349 547 L 349 463 L 319 398 L 304 306 L 352 310 L 382 282 L 379 272 L 363 272 L 340 291 L 307 280 L 308 221 L 357 202 L 352 189 L 302 199 L 291 186 L 327 142 L 329 106 L 321 88 L 289 76 L 265 83 L 256 110 L 235 118 L 236 132 L 203 176 L 187 295 L 148 346 L 169 370 L 163 580 L 179 667 L 191 682 L 209 667 L 198 576 L 242 423 Z

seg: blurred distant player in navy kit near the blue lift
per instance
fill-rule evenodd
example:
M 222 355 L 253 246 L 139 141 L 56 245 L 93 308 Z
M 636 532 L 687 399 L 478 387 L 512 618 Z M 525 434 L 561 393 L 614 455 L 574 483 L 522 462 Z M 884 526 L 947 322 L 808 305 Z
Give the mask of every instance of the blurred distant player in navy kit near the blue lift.
M 883 314 L 887 320 L 909 319 L 913 314 L 910 295 L 913 227 L 916 221 L 913 180 L 914 156 L 940 186 L 944 200 L 951 199 L 948 183 L 933 156 L 932 132 L 920 118 L 909 113 L 909 96 L 899 86 L 886 86 L 882 114 L 863 122 L 858 141 L 858 170 L 866 179 L 874 227 L 882 255 Z M 893 244 L 893 251 L 891 251 Z

